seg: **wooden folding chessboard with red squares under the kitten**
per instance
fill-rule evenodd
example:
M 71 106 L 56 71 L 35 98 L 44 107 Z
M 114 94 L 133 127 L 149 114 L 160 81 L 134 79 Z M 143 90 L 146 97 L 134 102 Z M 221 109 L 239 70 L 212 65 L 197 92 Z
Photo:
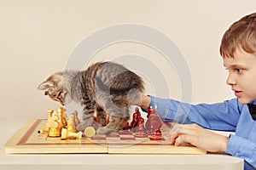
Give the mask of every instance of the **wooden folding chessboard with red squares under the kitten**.
M 170 124 L 161 127 L 160 140 L 137 138 L 134 133 L 121 131 L 109 135 L 96 134 L 92 138 L 52 138 L 47 133 L 38 134 L 46 120 L 29 120 L 5 144 L 7 153 L 102 153 L 102 154 L 206 154 L 206 150 L 194 146 L 173 146 L 168 132 Z

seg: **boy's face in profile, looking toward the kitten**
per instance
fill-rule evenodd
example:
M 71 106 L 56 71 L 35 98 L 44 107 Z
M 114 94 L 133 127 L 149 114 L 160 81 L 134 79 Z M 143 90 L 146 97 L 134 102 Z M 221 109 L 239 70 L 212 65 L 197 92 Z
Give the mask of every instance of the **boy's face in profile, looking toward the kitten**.
M 224 66 L 229 71 L 227 84 L 231 86 L 241 104 L 256 99 L 256 54 L 248 54 L 236 48 L 234 58 L 224 58 Z

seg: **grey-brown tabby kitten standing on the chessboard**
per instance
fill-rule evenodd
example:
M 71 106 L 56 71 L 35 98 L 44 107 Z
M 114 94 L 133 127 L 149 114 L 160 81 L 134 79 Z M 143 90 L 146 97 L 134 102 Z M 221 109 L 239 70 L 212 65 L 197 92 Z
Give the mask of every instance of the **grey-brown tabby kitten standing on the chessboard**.
M 84 131 L 85 127 L 94 125 L 97 133 L 107 134 L 125 126 L 130 118 L 129 106 L 140 103 L 144 87 L 142 78 L 123 65 L 98 62 L 85 71 L 55 73 L 38 89 L 61 105 L 71 101 L 82 105 L 83 120 L 77 130 Z M 110 120 L 106 126 L 107 114 Z

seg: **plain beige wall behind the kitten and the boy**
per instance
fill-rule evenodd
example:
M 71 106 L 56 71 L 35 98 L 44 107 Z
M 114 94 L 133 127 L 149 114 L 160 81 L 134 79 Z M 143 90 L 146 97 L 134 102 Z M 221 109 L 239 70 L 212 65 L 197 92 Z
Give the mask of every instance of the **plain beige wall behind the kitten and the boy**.
M 45 110 L 58 105 L 38 92 L 38 84 L 65 68 L 69 55 L 84 37 L 123 23 L 150 26 L 176 42 L 189 64 L 192 103 L 230 99 L 234 96 L 225 85 L 219 42 L 231 23 L 253 11 L 256 1 L 252 0 L 1 0 L 0 120 L 46 117 Z M 122 54 L 161 61 L 152 48 L 129 42 L 104 48 L 94 59 Z M 163 62 L 157 65 L 165 67 Z M 169 96 L 179 99 L 177 80 L 170 83 L 177 91 Z M 152 87 L 147 93 L 153 93 Z

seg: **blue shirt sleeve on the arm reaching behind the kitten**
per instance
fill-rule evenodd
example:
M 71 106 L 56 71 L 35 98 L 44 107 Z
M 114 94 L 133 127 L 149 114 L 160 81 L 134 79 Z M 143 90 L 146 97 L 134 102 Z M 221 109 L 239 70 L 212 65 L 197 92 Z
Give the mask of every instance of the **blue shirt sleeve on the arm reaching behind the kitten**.
M 212 130 L 236 131 L 243 107 L 238 99 L 212 105 L 189 105 L 174 99 L 150 97 L 150 106 L 157 106 L 158 115 L 164 122 L 196 123 Z

